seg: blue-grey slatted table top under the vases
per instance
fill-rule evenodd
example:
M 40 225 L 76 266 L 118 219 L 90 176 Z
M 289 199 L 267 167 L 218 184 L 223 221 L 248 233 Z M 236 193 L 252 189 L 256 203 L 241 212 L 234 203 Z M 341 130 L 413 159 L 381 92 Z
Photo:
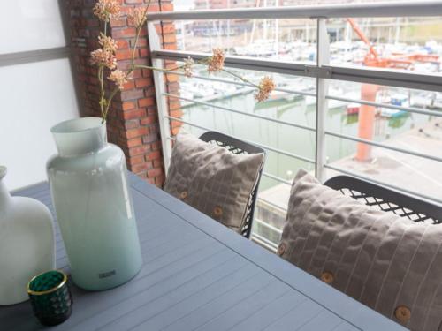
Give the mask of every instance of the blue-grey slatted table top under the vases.
M 130 174 L 144 265 L 101 292 L 72 285 L 54 330 L 404 330 L 178 199 Z M 53 212 L 49 186 L 17 192 Z M 57 230 L 57 267 L 69 272 Z M 0 307 L 0 330 L 43 329 L 28 302 Z

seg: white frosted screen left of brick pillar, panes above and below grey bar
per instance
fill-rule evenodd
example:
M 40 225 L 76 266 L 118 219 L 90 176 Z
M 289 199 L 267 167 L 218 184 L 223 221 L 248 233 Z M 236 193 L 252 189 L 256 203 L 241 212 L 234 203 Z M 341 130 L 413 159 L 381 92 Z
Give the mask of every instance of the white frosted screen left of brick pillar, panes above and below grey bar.
M 0 165 L 8 168 L 4 181 L 10 190 L 46 180 L 46 161 L 56 153 L 50 127 L 79 117 L 68 58 L 32 57 L 19 64 L 20 52 L 65 46 L 58 0 L 2 3 Z M 17 64 L 2 63 L 5 55 Z

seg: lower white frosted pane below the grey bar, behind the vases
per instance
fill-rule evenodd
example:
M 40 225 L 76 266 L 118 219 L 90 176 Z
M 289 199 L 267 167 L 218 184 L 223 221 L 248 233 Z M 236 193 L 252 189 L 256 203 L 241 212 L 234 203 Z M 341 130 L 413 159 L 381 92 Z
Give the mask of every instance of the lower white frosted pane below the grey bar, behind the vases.
M 10 190 L 46 179 L 50 127 L 78 117 L 67 59 L 0 67 L 0 164 Z

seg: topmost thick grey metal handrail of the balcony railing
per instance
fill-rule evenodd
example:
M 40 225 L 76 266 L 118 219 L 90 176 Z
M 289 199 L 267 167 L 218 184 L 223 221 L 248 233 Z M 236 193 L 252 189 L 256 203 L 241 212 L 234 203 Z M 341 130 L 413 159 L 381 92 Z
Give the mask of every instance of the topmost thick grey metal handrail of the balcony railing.
M 202 11 L 149 13 L 149 21 L 194 19 L 331 19 L 435 16 L 442 12 L 440 1 L 415 3 L 327 4 L 290 7 L 260 7 Z

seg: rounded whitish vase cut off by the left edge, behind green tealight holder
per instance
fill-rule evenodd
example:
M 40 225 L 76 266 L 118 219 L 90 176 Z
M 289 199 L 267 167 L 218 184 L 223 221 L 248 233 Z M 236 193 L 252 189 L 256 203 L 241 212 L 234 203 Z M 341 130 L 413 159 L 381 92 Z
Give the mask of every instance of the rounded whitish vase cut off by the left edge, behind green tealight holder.
M 54 225 L 40 201 L 11 197 L 0 166 L 0 305 L 26 301 L 27 282 L 55 267 Z

